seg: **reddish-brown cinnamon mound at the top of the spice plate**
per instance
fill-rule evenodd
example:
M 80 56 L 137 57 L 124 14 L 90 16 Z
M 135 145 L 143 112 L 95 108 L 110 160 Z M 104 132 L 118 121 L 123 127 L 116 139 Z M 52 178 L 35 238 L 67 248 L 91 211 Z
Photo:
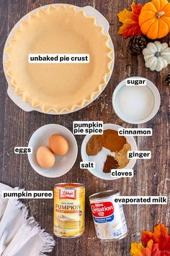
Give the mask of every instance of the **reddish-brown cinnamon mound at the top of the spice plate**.
M 105 129 L 102 135 L 102 146 L 111 152 L 120 151 L 127 142 L 124 136 L 119 136 L 114 129 Z

